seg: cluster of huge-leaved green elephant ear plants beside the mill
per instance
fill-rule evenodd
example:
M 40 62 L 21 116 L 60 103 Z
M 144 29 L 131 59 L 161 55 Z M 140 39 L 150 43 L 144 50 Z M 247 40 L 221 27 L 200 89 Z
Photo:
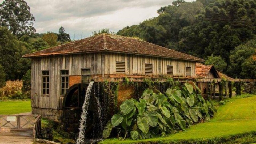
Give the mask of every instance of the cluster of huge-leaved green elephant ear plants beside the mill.
M 119 139 L 165 136 L 208 120 L 215 112 L 213 105 L 196 94 L 190 84 L 172 86 L 165 94 L 146 89 L 139 101 L 127 99 L 120 105 L 119 113 L 105 126 L 103 137 L 109 137 L 113 129 L 118 130 Z

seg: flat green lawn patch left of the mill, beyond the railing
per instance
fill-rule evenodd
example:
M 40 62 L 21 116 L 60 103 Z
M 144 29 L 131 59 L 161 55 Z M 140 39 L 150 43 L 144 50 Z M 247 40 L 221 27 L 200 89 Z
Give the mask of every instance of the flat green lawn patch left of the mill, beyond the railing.
M 0 101 L 0 114 L 19 114 L 30 111 L 30 101 Z

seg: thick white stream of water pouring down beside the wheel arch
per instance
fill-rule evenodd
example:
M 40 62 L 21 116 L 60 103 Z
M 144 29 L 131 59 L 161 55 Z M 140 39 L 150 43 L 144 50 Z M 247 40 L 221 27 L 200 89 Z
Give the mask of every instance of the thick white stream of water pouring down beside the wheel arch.
M 87 114 L 88 114 L 88 106 L 89 106 L 91 88 L 93 87 L 93 83 L 94 83 L 94 81 L 91 81 L 89 83 L 86 93 L 85 93 L 85 102 L 83 103 L 83 107 L 82 107 L 83 112 L 81 114 L 77 144 L 83 144 L 85 141 L 85 126 L 86 126 L 85 124 L 86 124 L 86 118 L 87 118 Z

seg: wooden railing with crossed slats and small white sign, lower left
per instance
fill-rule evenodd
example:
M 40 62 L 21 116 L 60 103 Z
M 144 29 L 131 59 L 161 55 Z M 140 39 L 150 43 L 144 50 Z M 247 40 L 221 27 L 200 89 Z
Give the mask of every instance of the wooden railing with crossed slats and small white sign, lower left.
M 41 115 L 0 115 L 0 127 L 12 130 L 33 130 L 33 141 L 41 131 Z

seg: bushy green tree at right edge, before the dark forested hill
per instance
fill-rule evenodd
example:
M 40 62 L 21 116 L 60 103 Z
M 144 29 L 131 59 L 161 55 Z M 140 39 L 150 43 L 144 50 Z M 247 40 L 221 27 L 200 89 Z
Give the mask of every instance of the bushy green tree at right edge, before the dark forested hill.
M 234 78 L 256 78 L 256 39 L 235 47 L 230 53 L 228 73 Z

